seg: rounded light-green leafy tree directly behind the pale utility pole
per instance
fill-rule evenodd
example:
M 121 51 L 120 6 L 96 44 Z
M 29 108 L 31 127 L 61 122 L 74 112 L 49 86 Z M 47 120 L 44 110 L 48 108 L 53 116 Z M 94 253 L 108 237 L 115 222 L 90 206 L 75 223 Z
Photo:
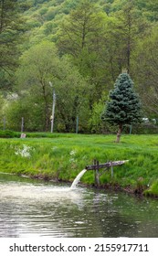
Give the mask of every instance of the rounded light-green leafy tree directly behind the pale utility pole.
M 21 95 L 34 95 L 32 105 L 40 109 L 43 130 L 49 130 L 53 89 L 57 94 L 55 126 L 61 123 L 64 131 L 72 132 L 77 115 L 83 121 L 84 113 L 89 112 L 90 86 L 67 57 L 58 57 L 54 43 L 45 41 L 29 48 L 20 59 L 17 78 Z

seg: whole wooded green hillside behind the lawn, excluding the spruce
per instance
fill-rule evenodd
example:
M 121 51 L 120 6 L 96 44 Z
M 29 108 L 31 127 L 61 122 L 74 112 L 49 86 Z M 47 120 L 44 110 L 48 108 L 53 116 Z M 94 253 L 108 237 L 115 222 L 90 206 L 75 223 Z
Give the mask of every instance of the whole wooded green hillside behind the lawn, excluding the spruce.
M 157 125 L 158 0 L 0 0 L 1 129 L 50 131 L 54 93 L 54 131 L 112 132 L 100 114 L 122 69 Z

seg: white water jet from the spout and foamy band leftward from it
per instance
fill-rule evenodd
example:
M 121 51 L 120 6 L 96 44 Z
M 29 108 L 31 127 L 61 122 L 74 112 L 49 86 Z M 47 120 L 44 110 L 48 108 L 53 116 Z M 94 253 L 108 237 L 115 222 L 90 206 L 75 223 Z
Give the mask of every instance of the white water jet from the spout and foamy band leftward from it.
M 84 175 L 86 169 L 82 170 L 73 181 L 71 187 L 57 187 L 45 185 L 31 185 L 30 183 L 10 182 L 9 189 L 7 183 L 0 183 L 1 200 L 28 199 L 35 201 L 58 201 L 71 200 L 78 201 L 81 197 L 81 188 L 75 189 L 79 183 L 81 176 Z

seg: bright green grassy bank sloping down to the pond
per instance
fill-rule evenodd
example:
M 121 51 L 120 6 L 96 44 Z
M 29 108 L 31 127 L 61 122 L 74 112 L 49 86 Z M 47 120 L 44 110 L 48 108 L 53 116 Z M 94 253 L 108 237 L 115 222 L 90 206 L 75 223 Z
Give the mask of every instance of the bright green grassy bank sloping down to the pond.
M 101 186 L 123 187 L 129 191 L 158 196 L 158 136 L 122 135 L 115 144 L 114 135 L 47 133 L 34 138 L 0 139 L 0 171 L 72 182 L 93 159 L 100 163 L 129 160 L 100 176 Z M 87 171 L 82 183 L 93 185 L 93 171 Z

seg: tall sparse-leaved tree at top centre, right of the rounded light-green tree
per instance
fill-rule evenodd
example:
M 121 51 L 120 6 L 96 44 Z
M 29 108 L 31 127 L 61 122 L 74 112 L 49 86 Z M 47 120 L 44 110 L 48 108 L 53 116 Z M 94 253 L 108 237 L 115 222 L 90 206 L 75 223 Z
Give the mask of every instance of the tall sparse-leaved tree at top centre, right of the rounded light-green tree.
M 95 84 L 91 102 L 100 99 L 102 88 L 106 86 L 105 69 L 108 65 L 101 57 L 107 20 L 106 13 L 90 0 L 85 0 L 63 20 L 58 31 L 61 54 L 69 54 L 81 75 Z

